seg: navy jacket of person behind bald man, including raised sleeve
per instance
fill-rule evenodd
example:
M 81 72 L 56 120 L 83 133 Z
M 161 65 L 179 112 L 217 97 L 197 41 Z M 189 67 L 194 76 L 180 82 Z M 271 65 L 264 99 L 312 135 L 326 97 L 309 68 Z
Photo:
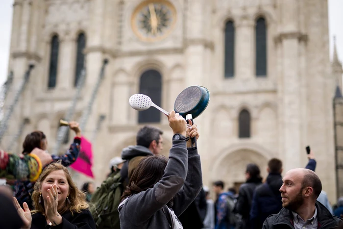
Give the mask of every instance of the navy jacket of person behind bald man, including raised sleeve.
M 310 159 L 305 168 L 315 171 L 316 165 L 316 160 Z M 270 173 L 267 182 L 255 189 L 250 210 L 251 229 L 262 228 L 268 216 L 277 214 L 282 209 L 280 193 L 282 184 L 281 174 Z

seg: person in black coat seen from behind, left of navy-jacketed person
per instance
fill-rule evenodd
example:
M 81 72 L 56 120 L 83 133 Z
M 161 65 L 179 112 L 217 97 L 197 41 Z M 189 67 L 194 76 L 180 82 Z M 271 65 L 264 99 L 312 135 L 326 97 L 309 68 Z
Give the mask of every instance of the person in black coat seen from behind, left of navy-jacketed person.
M 236 226 L 238 229 L 250 229 L 250 208 L 255 188 L 262 184 L 260 168 L 256 164 L 248 164 L 245 170 L 246 182 L 241 185 L 238 192 L 237 203 L 234 212 L 242 216 L 241 222 Z

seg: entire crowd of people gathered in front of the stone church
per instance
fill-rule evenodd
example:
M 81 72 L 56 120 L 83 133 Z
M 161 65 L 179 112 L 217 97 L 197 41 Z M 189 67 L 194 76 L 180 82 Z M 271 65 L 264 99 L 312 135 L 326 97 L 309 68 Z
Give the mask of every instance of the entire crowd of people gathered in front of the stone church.
M 4 229 L 333 229 L 343 228 L 343 198 L 331 207 L 315 173 L 311 152 L 305 168 L 285 173 L 282 161 L 268 162 L 268 177 L 250 163 L 239 190 L 203 185 L 197 126 L 172 111 L 169 157 L 163 131 L 146 126 L 136 145 L 109 164 L 100 187 L 78 188 L 67 167 L 78 157 L 81 129 L 62 155 L 51 155 L 42 131 L 28 134 L 20 155 L 0 151 L 0 228 Z M 187 124 L 192 128 L 187 128 Z M 200 139 L 201 140 L 201 139 Z M 212 194 L 212 195 L 211 195 Z M 212 200 L 211 196 L 215 196 Z

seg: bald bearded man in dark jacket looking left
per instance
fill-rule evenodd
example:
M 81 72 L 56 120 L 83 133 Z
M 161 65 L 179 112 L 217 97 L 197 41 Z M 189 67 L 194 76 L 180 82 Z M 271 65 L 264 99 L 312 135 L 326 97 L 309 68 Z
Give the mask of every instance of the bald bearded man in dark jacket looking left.
M 332 216 L 324 205 L 317 202 L 321 181 L 309 169 L 292 169 L 282 179 L 280 188 L 282 209 L 270 215 L 263 229 L 333 229 L 341 218 Z

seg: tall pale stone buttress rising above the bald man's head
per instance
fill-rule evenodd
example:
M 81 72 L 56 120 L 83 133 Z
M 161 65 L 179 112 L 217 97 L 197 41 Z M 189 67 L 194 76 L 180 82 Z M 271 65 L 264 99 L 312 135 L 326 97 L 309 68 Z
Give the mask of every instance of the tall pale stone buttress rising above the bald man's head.
M 282 30 L 276 42 L 281 49 L 281 80 L 278 90 L 281 99 L 280 122 L 283 127 L 280 133 L 285 171 L 303 167 L 301 155 L 304 147 L 301 144 L 301 94 L 299 76 L 299 33 L 297 31 L 296 0 L 282 1 L 281 26 Z

